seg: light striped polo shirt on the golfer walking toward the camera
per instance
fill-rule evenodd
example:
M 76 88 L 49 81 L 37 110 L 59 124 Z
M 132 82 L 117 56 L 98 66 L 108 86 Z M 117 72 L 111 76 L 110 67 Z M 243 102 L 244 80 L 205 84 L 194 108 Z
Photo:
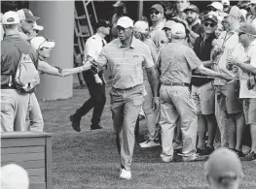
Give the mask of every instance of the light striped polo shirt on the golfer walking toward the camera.
M 112 86 L 127 89 L 143 83 L 143 69 L 154 67 L 149 47 L 132 38 L 130 47 L 116 39 L 102 48 L 96 62 L 99 67 L 108 64 L 113 76 Z

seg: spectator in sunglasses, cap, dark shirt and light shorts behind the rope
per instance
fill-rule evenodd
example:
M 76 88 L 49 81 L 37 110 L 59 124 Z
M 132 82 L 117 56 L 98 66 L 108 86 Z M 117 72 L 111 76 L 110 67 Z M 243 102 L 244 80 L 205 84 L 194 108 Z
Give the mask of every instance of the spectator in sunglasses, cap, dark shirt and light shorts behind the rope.
M 197 38 L 194 44 L 194 51 L 201 59 L 205 67 L 210 68 L 212 61 L 210 60 L 210 53 L 212 49 L 212 41 L 216 39 L 215 30 L 217 28 L 217 16 L 206 15 L 203 17 L 204 32 Z M 194 75 L 195 76 L 195 75 Z M 200 77 L 200 75 L 197 75 Z M 213 150 L 213 142 L 217 129 L 215 119 L 215 95 L 211 79 L 193 78 L 192 79 L 192 97 L 198 109 L 199 122 L 199 142 L 198 152 L 202 155 L 209 155 Z M 205 134 L 208 132 L 208 141 L 206 146 Z

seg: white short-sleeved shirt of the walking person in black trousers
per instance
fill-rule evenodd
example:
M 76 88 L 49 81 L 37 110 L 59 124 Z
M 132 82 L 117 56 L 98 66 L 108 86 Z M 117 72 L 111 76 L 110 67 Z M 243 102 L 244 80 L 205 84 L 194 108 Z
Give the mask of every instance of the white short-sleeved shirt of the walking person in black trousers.
M 91 36 L 85 46 L 85 59 L 87 56 L 91 56 L 94 60 L 97 59 L 103 44 L 106 45 L 106 41 L 101 38 L 97 33 Z

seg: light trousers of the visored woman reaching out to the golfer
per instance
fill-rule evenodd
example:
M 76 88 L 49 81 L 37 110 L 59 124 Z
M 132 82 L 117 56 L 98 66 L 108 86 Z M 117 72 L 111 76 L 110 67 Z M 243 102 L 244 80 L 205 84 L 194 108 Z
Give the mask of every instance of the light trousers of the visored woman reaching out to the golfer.
M 43 115 L 42 115 L 35 93 L 32 93 L 30 95 L 28 111 L 26 114 L 26 125 L 30 131 L 43 132 L 44 130 Z

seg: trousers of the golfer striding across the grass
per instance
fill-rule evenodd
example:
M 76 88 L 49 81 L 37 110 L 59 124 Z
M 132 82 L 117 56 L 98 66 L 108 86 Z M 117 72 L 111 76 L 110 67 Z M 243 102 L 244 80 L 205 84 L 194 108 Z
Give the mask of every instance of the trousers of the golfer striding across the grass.
M 134 129 L 139 110 L 143 103 L 144 86 L 110 91 L 112 118 L 117 135 L 116 142 L 120 153 L 122 169 L 130 170 L 135 143 Z

